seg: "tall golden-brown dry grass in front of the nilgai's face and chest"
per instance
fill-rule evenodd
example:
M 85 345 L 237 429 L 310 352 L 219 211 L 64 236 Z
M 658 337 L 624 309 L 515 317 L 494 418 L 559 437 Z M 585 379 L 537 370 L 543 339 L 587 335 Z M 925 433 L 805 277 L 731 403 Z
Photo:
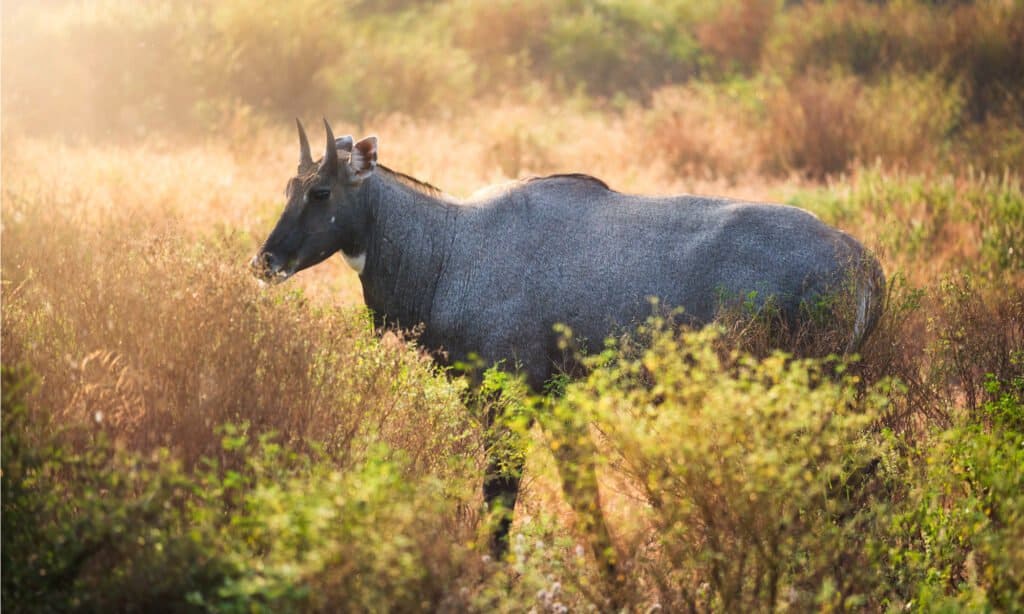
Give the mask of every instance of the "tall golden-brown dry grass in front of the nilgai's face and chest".
M 34 402 L 189 464 L 218 454 L 225 423 L 344 463 L 378 439 L 424 467 L 472 448 L 424 435 L 463 432 L 459 392 L 372 335 L 352 279 L 355 296 L 316 301 L 249 277 L 252 201 L 272 198 L 229 151 L 37 146 L 4 161 L 3 201 L 4 362 L 38 372 Z

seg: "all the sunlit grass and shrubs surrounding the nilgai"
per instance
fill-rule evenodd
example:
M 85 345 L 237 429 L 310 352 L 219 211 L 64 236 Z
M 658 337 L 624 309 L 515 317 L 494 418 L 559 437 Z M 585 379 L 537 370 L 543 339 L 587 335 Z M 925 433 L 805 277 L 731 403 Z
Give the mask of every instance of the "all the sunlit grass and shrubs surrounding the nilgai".
M 3 18 L 5 608 L 1024 609 L 1019 2 Z M 559 399 L 499 381 L 511 414 L 591 425 L 629 581 L 579 547 L 558 421 L 516 423 L 512 556 L 487 561 L 465 384 L 375 335 L 337 259 L 270 289 L 244 266 L 290 117 L 318 114 L 459 195 L 586 171 L 804 207 L 878 254 L 886 314 L 850 364 L 726 320 L 609 348 Z

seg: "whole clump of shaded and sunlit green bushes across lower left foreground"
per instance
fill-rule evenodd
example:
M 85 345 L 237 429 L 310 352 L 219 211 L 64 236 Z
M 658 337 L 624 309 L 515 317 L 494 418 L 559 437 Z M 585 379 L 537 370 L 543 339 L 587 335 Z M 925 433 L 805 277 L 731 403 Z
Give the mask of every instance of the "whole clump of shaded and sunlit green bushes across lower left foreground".
M 98 438 L 76 450 L 4 369 L 4 601 L 36 609 L 428 610 L 472 528 L 468 491 L 379 446 L 341 471 L 245 428 L 184 472 Z M 88 429 L 88 425 L 74 428 Z M 233 467 L 234 469 L 227 469 Z

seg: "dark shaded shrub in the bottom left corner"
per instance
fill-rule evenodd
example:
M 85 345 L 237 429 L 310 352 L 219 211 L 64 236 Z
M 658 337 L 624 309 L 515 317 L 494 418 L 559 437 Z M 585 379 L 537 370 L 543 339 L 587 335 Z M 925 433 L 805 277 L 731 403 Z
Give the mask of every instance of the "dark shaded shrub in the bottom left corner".
M 209 590 L 221 570 L 182 510 L 191 484 L 166 452 L 124 454 L 27 404 L 31 376 L 3 369 L 3 600 L 12 611 L 157 607 Z M 181 604 L 183 605 L 183 604 Z

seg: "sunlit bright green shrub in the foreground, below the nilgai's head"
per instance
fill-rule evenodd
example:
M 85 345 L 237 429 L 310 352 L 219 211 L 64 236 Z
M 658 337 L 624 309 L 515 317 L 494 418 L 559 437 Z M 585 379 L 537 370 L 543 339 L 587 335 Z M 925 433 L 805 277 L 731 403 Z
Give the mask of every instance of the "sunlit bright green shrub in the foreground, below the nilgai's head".
M 452 519 L 475 489 L 417 476 L 384 446 L 343 471 L 290 458 L 266 438 L 236 451 L 246 469 L 202 476 L 191 511 L 212 525 L 232 570 L 204 602 L 229 611 L 416 611 L 454 593 L 472 530 Z M 226 522 L 225 505 L 236 510 Z

